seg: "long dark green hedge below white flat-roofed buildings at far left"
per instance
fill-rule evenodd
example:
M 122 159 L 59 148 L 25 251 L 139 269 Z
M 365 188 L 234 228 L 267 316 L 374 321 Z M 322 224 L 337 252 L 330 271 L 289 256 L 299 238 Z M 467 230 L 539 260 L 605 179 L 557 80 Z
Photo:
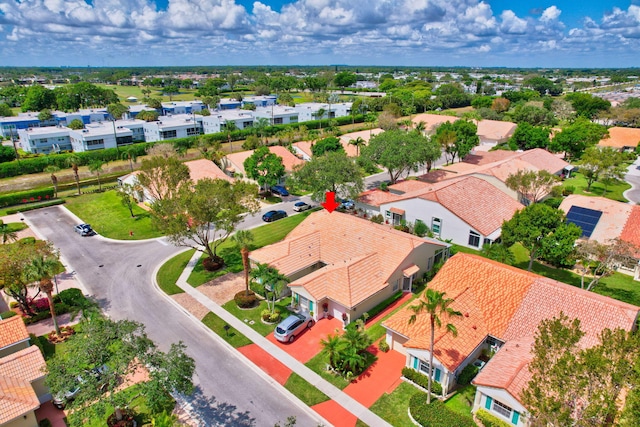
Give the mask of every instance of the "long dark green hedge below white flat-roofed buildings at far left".
M 153 145 L 151 142 L 141 142 L 123 148 L 105 148 L 103 150 L 78 153 L 47 154 L 38 157 L 27 157 L 12 162 L 0 163 L 0 178 L 44 172 L 47 166 L 57 166 L 60 169 L 69 168 L 69 158 L 71 156 L 78 158 L 78 166 L 86 166 L 94 160 L 102 160 L 105 163 L 121 160 L 124 150 L 132 150 L 132 155 L 138 157 L 146 154 L 147 149 L 151 145 Z

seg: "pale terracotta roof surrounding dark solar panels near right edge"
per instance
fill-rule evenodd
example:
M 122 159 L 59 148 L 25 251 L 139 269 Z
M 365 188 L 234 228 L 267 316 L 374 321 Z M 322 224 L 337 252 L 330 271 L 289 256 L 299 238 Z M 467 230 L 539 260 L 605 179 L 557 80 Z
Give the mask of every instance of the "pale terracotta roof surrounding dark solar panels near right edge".
M 589 197 L 580 194 L 571 194 L 565 198 L 560 204 L 559 209 L 567 214 L 573 206 L 602 212 L 602 216 L 600 217 L 596 228 L 593 229 L 593 233 L 590 237 L 591 240 L 595 240 L 600 243 L 607 243 L 610 239 L 614 239 L 616 237 L 622 238 L 625 225 L 633 223 L 633 221 L 629 221 L 631 212 L 634 209 L 637 209 L 633 205 L 629 205 L 627 203 L 617 202 L 604 197 Z M 637 236 L 638 233 L 634 232 L 627 235 L 627 237 L 632 240 L 634 238 L 640 240 L 640 237 Z M 638 241 L 638 243 L 640 243 L 640 241 Z

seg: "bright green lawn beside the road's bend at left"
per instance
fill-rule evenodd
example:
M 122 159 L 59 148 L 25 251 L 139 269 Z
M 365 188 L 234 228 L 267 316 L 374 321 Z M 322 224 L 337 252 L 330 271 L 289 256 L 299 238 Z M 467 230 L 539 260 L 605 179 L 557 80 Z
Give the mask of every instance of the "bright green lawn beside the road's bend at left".
M 115 190 L 103 193 L 83 194 L 68 197 L 65 206 L 82 221 L 91 224 L 104 237 L 118 240 L 138 240 L 161 237 L 151 224 L 151 214 L 134 206 L 135 218 L 122 206 Z M 133 236 L 129 235 L 133 231 Z

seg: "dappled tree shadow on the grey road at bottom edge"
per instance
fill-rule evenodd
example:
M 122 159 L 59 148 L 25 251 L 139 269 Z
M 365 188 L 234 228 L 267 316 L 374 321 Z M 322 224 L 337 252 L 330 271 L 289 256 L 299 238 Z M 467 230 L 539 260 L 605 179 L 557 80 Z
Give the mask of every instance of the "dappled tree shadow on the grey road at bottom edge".
M 180 396 L 177 400 L 186 402 L 188 414 L 199 427 L 208 426 L 255 426 L 255 418 L 248 411 L 237 411 L 235 405 L 219 402 L 215 397 L 205 396 L 200 387 L 191 396 Z

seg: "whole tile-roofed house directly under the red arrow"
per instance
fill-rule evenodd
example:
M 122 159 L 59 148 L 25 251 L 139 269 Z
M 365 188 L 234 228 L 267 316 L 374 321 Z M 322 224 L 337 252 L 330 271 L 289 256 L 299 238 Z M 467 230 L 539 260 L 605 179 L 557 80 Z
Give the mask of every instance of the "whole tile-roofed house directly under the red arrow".
M 322 210 L 249 259 L 286 275 L 293 301 L 314 318 L 326 307 L 326 315 L 351 321 L 396 292 L 410 292 L 448 253 L 447 243 Z

